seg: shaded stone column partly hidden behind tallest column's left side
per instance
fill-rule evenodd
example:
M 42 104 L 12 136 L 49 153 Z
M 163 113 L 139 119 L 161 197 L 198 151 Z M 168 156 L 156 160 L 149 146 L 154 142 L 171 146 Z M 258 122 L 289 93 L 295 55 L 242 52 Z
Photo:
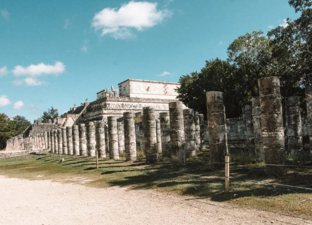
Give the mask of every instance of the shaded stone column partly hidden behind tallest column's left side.
M 252 97 L 251 103 L 252 103 L 252 122 L 254 128 L 256 157 L 259 161 L 263 161 L 264 150 L 262 141 L 261 110 L 259 97 Z

